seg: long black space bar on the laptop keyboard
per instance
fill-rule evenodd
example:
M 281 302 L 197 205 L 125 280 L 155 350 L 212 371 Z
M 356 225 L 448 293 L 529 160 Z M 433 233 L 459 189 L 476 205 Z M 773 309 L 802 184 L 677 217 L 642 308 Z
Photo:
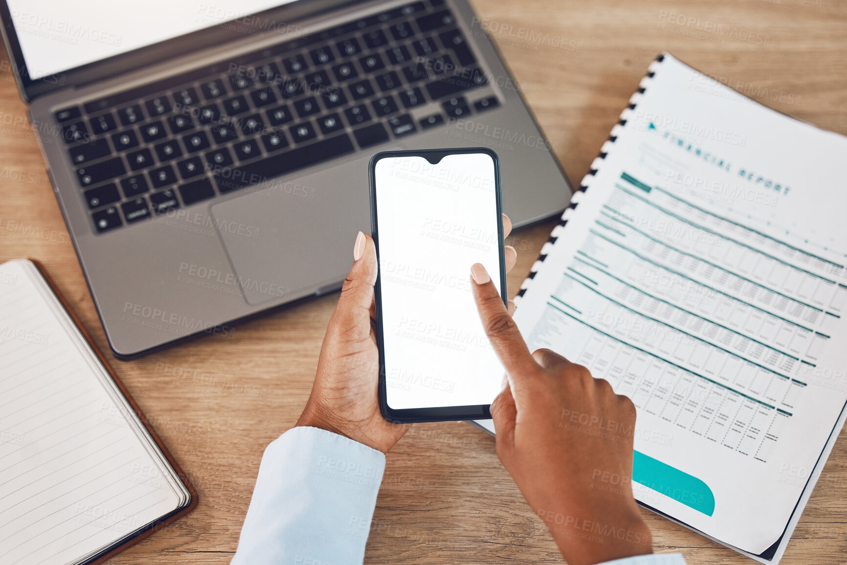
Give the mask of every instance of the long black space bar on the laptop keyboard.
M 271 187 L 268 179 L 280 176 L 280 174 L 290 173 L 296 169 L 303 169 L 353 150 L 353 142 L 350 141 L 350 136 L 341 134 L 241 167 L 218 169 L 215 171 L 214 181 L 221 192 L 235 191 L 248 185 L 257 187 L 257 190 L 263 190 Z

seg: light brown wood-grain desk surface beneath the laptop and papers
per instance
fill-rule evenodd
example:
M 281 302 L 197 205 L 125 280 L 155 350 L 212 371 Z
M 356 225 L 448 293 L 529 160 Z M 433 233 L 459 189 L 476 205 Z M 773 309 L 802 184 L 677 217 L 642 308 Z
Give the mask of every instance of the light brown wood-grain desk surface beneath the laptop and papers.
M 662 50 L 771 108 L 847 134 L 847 3 L 472 3 L 525 86 L 529 105 L 574 185 Z M 700 24 L 678 25 L 672 18 L 700 19 Z M 511 36 L 503 30 L 509 25 Z M 730 32 L 708 31 L 717 25 Z M 567 47 L 554 47 L 561 39 L 528 44 L 518 39 L 526 33 L 518 28 L 563 38 Z M 751 41 L 744 41 L 748 37 Z M 25 106 L 8 64 L 0 70 L 0 259 L 32 257 L 45 263 L 108 351 L 36 141 L 18 120 L 25 119 Z M 509 277 L 512 295 L 552 224 L 513 236 L 519 260 Z M 232 340 L 209 336 L 130 363 L 113 362 L 195 481 L 200 504 L 109 563 L 230 561 L 263 449 L 295 423 L 306 402 L 336 299 L 337 294 L 324 296 L 241 324 Z M 644 515 L 656 551 L 681 551 L 689 563 L 750 562 L 651 512 Z M 842 437 L 784 562 L 844 562 L 845 515 L 847 440 Z M 468 424 L 416 424 L 388 457 L 365 562 L 507 560 L 550 563 L 561 557 L 497 461 L 493 440 Z

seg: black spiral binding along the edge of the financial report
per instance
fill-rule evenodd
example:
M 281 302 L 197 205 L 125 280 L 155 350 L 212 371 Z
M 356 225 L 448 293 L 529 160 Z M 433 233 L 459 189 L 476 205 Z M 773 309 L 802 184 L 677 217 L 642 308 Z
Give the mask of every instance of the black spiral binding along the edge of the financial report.
M 600 165 L 603 159 L 606 158 L 609 151 L 612 150 L 612 144 L 617 140 L 617 137 L 620 135 L 623 127 L 627 125 L 627 121 L 631 114 L 633 113 L 635 107 L 638 105 L 641 97 L 644 95 L 647 86 L 650 84 L 650 80 L 656 75 L 656 70 L 659 69 L 659 65 L 665 59 L 665 53 L 660 53 L 656 60 L 650 63 L 650 67 L 647 68 L 647 74 L 641 78 L 639 82 L 639 89 L 633 93 L 631 97 L 629 97 L 629 105 L 627 108 L 623 109 L 620 117 L 617 119 L 617 124 L 612 127 L 612 132 L 609 135 L 609 139 L 603 142 L 603 147 L 600 149 L 600 154 L 595 157 L 594 161 L 591 162 L 591 166 L 589 168 L 588 174 L 583 177 L 583 180 L 579 183 L 579 189 L 573 193 L 571 197 L 570 204 L 567 205 L 565 211 L 562 213 L 562 218 L 559 219 L 559 223 L 556 224 L 556 227 L 550 233 L 550 237 L 545 241 L 545 244 L 541 246 L 541 252 L 537 259 L 535 259 L 535 263 L 533 263 L 532 269 L 529 269 L 529 274 L 527 278 L 523 280 L 521 283 L 521 289 L 518 291 L 518 295 L 515 296 L 514 301 L 517 305 L 520 302 L 523 295 L 526 294 L 527 289 L 529 288 L 529 282 L 535 278 L 535 274 L 538 273 L 541 268 L 541 263 L 544 263 L 545 258 L 550 254 L 552 247 L 556 244 L 556 240 L 559 239 L 559 235 L 561 235 L 562 230 L 565 228 L 565 224 L 567 224 L 567 220 L 571 219 L 573 216 L 573 211 L 579 205 L 579 201 L 582 200 L 583 193 L 588 190 L 591 186 L 591 180 L 597 174 L 597 170 L 600 169 Z

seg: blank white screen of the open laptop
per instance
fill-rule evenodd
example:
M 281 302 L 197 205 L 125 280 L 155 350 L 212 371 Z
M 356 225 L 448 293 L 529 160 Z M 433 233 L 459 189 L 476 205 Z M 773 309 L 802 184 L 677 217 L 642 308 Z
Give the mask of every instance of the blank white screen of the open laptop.
M 295 0 L 7 0 L 31 79 L 214 25 L 250 26 L 285 33 L 283 22 L 252 21 L 251 14 Z

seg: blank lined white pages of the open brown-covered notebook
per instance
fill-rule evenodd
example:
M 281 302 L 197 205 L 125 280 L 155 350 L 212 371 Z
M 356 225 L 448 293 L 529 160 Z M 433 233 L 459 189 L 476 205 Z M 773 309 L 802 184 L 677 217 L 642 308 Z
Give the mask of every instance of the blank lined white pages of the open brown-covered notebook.
M 188 500 L 35 266 L 0 265 L 0 556 L 79 563 Z

